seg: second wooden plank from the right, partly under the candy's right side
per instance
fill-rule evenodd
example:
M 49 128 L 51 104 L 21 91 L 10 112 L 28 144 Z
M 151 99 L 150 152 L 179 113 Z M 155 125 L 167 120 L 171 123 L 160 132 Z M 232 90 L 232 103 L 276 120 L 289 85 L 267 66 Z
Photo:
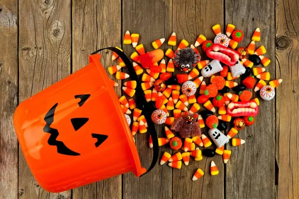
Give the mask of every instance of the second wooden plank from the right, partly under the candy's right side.
M 255 28 L 261 28 L 261 41 L 256 42 L 256 47 L 266 47 L 265 56 L 272 60 L 266 71 L 270 72 L 271 79 L 275 79 L 274 0 L 227 0 L 225 23 L 232 23 L 243 30 L 244 39 L 238 47 L 246 47 Z M 275 197 L 275 100 L 264 101 L 259 92 L 254 97 L 260 100 L 256 122 L 236 135 L 246 140 L 246 143 L 239 147 L 226 145 L 232 151 L 226 165 L 227 199 Z

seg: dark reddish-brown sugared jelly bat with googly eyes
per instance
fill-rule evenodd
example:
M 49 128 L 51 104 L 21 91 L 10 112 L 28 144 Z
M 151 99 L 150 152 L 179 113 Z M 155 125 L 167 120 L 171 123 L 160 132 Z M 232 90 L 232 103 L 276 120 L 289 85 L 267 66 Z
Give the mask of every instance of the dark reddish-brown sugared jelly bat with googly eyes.
M 178 117 L 171 125 L 171 130 L 178 131 L 183 138 L 200 136 L 201 130 L 199 124 L 196 121 L 198 114 L 190 114 L 188 111 L 184 113 L 184 116 Z

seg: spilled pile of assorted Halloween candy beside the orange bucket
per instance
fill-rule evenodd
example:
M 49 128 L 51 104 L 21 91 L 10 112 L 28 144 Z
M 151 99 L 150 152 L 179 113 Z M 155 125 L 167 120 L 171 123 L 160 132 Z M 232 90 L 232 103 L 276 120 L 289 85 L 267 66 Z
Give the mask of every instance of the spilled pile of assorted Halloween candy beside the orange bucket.
M 259 100 L 252 99 L 252 92 L 260 91 L 263 100 L 272 100 L 275 88 L 282 83 L 282 79 L 270 81 L 269 85 L 265 82 L 270 80 L 270 73 L 266 72 L 264 67 L 271 61 L 264 56 L 264 46 L 257 49 L 255 47 L 255 42 L 261 39 L 260 28 L 254 31 L 252 41 L 247 47 L 239 47 L 237 50 L 234 49 L 244 37 L 242 30 L 235 30 L 232 24 L 227 25 L 226 34 L 222 33 L 219 24 L 214 25 L 212 29 L 216 34 L 213 41 L 200 34 L 194 45 L 188 47 L 189 43 L 183 39 L 175 51 L 168 48 L 165 53 L 158 49 L 165 41 L 164 38 L 153 41 L 152 47 L 156 50 L 146 53 L 143 44 L 138 45 L 139 34 L 130 34 L 127 31 L 124 36 L 124 44 L 132 44 L 137 51 L 130 58 L 134 61 L 136 74 L 142 75 L 141 86 L 146 100 L 153 101 L 157 108 L 152 112 L 151 119 L 155 124 L 164 124 L 166 137 L 159 137 L 158 144 L 169 144 L 171 149 L 182 152 L 175 152 L 172 156 L 164 152 L 160 165 L 168 161 L 170 167 L 180 169 L 182 161 L 185 165 L 189 164 L 190 156 L 194 157 L 195 161 L 200 161 L 203 156 L 214 157 L 215 154 L 222 155 L 226 164 L 231 151 L 224 150 L 225 144 L 230 139 L 232 146 L 244 144 L 245 140 L 233 137 L 245 126 L 252 125 L 259 112 Z M 174 32 L 167 44 L 176 46 Z M 198 46 L 202 47 L 211 60 L 201 60 L 201 55 L 196 49 Z M 164 55 L 169 58 L 167 65 L 165 59 L 162 59 Z M 113 53 L 112 60 L 117 58 L 118 55 Z M 264 67 L 257 67 L 260 64 Z M 108 71 L 110 74 L 116 73 L 117 80 L 129 78 L 128 74 L 119 71 L 122 67 L 125 67 L 124 62 L 119 58 L 119 65 L 109 67 Z M 171 73 L 175 68 L 183 74 L 173 76 Z M 210 78 L 210 84 L 207 84 L 208 81 L 204 81 L 204 78 Z M 241 78 L 242 84 L 233 81 L 237 78 Z M 257 84 L 255 78 L 259 79 Z M 118 86 L 112 80 L 111 84 Z M 125 96 L 119 99 L 129 126 L 131 118 L 128 114 L 133 110 L 133 135 L 138 131 L 146 133 L 148 127 L 142 110 L 136 108 L 132 99 L 136 84 L 136 81 L 125 82 L 122 89 L 131 99 L 127 100 Z M 199 96 L 195 97 L 197 90 Z M 206 110 L 199 112 L 199 104 L 203 104 Z M 233 127 L 224 135 L 223 131 L 227 130 L 231 120 Z M 202 134 L 202 129 L 207 133 Z M 210 139 L 217 148 L 201 150 L 199 147 L 207 148 L 212 145 Z M 149 147 L 152 147 L 151 137 Z M 211 161 L 210 173 L 212 176 L 219 174 L 214 161 Z M 203 175 L 203 171 L 197 169 L 192 180 L 195 181 Z

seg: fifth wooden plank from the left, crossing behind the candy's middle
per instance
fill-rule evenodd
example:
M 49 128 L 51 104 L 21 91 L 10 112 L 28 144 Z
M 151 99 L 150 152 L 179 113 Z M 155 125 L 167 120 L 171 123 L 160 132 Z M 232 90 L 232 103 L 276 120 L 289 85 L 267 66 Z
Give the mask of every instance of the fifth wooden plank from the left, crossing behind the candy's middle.
M 214 40 L 212 26 L 219 23 L 223 27 L 223 1 L 221 0 L 173 0 L 172 24 L 173 31 L 176 32 L 178 43 L 181 39 L 186 39 L 189 45 L 195 43 L 199 34 L 206 36 L 208 40 Z M 174 50 L 176 47 L 174 48 Z M 202 55 L 201 60 L 207 59 L 201 47 L 197 47 Z M 196 67 L 197 68 L 197 67 Z M 176 70 L 175 73 L 181 73 Z M 204 81 L 209 83 L 209 78 Z M 199 96 L 199 90 L 195 94 Z M 191 107 L 192 104 L 188 106 Z M 204 110 L 200 104 L 200 111 Z M 201 129 L 203 134 L 208 136 L 208 129 Z M 209 137 L 209 136 L 208 136 Z M 201 147 L 200 147 L 201 148 Z M 216 148 L 212 146 L 211 148 Z M 201 148 L 203 149 L 203 148 Z M 173 198 L 177 199 L 207 199 L 224 197 L 224 166 L 221 156 L 216 155 L 213 158 L 203 157 L 201 161 L 194 161 L 190 158 L 188 166 L 182 166 L 181 170 L 173 170 Z M 220 174 L 210 175 L 210 164 L 214 161 Z M 200 168 L 205 175 L 193 182 L 192 177 L 195 171 Z M 214 189 L 217 188 L 217 189 Z

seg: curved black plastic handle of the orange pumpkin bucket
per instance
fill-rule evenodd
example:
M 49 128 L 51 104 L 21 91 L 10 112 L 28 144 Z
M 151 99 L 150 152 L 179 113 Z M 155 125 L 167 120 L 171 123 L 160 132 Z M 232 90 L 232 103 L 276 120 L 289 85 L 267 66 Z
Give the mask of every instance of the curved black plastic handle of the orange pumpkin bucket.
M 155 130 L 155 127 L 154 127 L 154 124 L 151 120 L 151 113 L 155 110 L 155 106 L 153 104 L 152 101 L 150 102 L 147 102 L 146 98 L 145 98 L 145 95 L 143 93 L 143 90 L 141 88 L 141 83 L 137 77 L 137 74 L 134 70 L 134 67 L 131 63 L 131 61 L 129 60 L 129 58 L 125 55 L 125 53 L 115 47 L 107 47 L 107 48 L 102 48 L 102 49 L 99 49 L 99 50 L 96 50 L 95 52 L 91 53 L 92 55 L 93 54 L 96 54 L 102 50 L 112 50 L 113 52 L 115 52 L 116 54 L 118 54 L 122 60 L 124 61 L 124 63 L 126 64 L 128 70 L 129 70 L 129 73 L 130 73 L 130 78 L 132 80 L 135 80 L 137 82 L 137 87 L 136 87 L 136 105 L 139 109 L 142 110 L 143 112 L 143 115 L 145 115 L 145 118 L 148 122 L 148 129 L 149 129 L 149 133 L 151 135 L 151 139 L 152 139 L 152 145 L 153 145 L 153 155 L 152 155 L 152 161 L 151 161 L 151 164 L 149 166 L 149 169 L 147 170 L 146 173 L 144 173 L 143 175 L 147 174 L 150 170 L 152 170 L 152 168 L 155 166 L 157 160 L 158 160 L 158 156 L 159 156 L 159 145 L 158 145 L 158 138 L 157 138 L 157 133 L 156 133 L 156 130 Z M 143 175 L 141 175 L 140 177 L 142 177 Z

